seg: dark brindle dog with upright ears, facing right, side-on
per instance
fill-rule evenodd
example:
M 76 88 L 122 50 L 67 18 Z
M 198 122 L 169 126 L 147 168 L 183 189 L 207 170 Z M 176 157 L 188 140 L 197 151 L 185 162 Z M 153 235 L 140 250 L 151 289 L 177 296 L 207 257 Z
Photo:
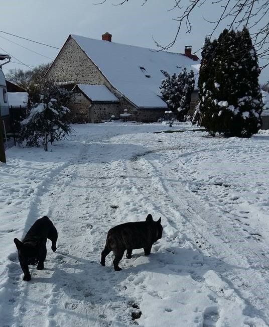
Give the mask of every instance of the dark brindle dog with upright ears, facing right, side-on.
M 101 265 L 105 266 L 105 257 L 113 251 L 114 269 L 121 270 L 118 263 L 122 259 L 124 251 L 126 257 L 131 258 L 133 249 L 144 249 L 145 255 L 151 253 L 153 243 L 162 238 L 163 227 L 161 217 L 157 222 L 153 221 L 152 215 L 148 214 L 146 222 L 125 223 L 111 228 L 108 231 L 106 244 L 101 254 Z

